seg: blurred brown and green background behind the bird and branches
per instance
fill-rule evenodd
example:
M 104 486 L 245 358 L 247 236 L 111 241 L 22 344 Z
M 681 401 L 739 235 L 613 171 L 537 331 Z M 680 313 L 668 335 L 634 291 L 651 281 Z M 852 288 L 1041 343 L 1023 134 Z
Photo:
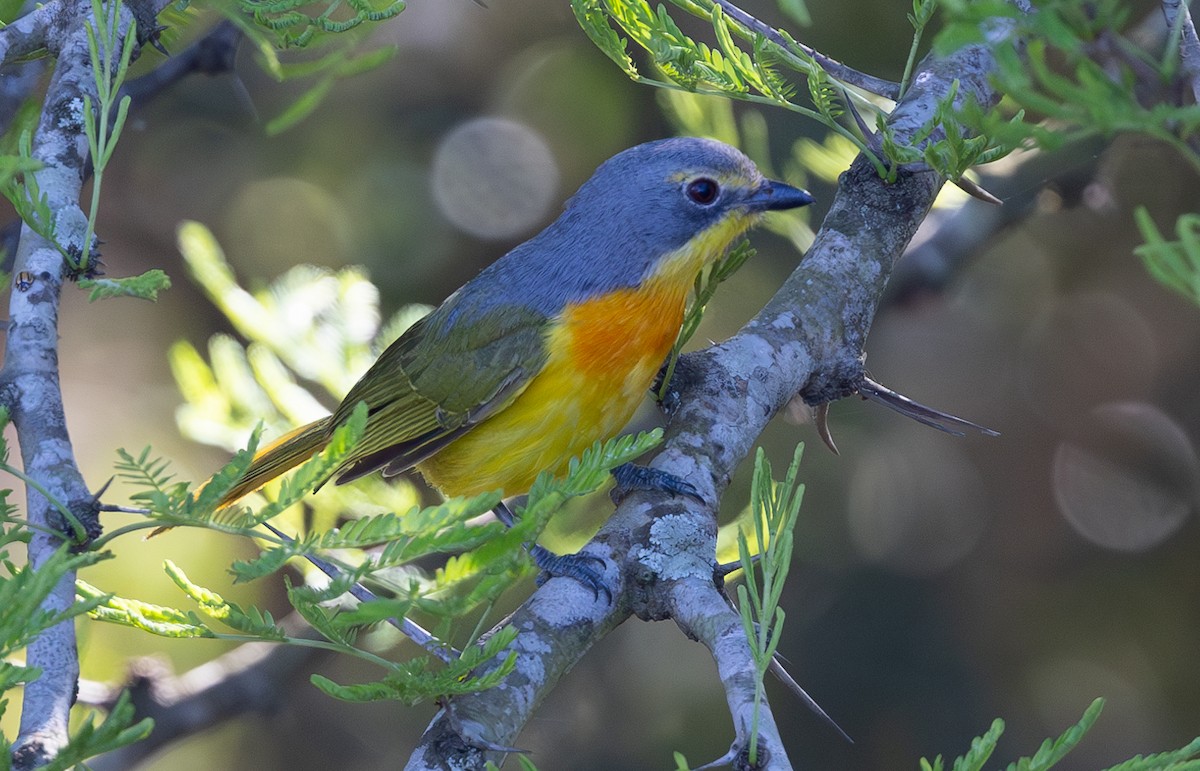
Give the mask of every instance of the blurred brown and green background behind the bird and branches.
M 810 0 L 803 37 L 899 79 L 906 6 Z M 746 10 L 784 22 L 773 4 Z M 131 115 L 106 174 L 104 261 L 114 275 L 163 268 L 174 286 L 157 304 L 65 294 L 68 423 L 94 488 L 113 474 L 118 447 L 151 444 L 197 480 L 227 458 L 175 425 L 167 348 L 180 339 L 203 348 L 229 331 L 180 263 L 180 221 L 211 227 L 252 287 L 295 263 L 364 265 L 390 315 L 440 301 L 550 222 L 602 160 L 674 131 L 659 94 L 626 80 L 564 1 L 415 1 L 370 44 L 398 54 L 338 83 L 277 137 L 264 121 L 304 85 L 264 74 L 248 48 L 235 74 L 186 79 Z M 794 115 L 762 115 L 781 166 L 798 137 L 821 138 Z M 816 226 L 834 190 L 797 181 L 817 197 Z M 830 410 L 840 456 L 787 416 L 762 437 L 776 468 L 797 442 L 808 446 L 780 651 L 856 742 L 770 682 L 797 766 L 913 769 L 922 755 L 961 754 L 995 717 L 1008 727 L 996 758 L 1008 763 L 1096 697 L 1108 700 L 1104 713 L 1062 769 L 1200 734 L 1200 309 L 1132 253 L 1134 205 L 1165 227 L 1196 209 L 1200 180 L 1164 145 L 1122 139 L 1009 196 L 1027 215 L 938 286 L 892 298 L 868 342 L 876 379 L 1000 437 L 943 435 L 859 400 Z M 914 247 L 947 216 L 935 211 Z M 754 243 L 758 255 L 718 294 L 696 342 L 737 330 L 800 259 L 769 233 Z M 748 498 L 746 471 L 727 518 Z M 606 512 L 598 497 L 569 522 L 594 527 Z M 278 586 L 226 588 L 224 567 L 248 549 L 193 531 L 126 538 L 114 544 L 118 560 L 83 578 L 180 603 L 160 568 L 170 558 L 233 599 L 286 612 Z M 86 622 L 80 634 L 84 676 L 106 682 L 136 656 L 184 671 L 228 650 Z M 280 686 L 274 710 L 173 745 L 144 767 L 396 767 L 434 707 L 343 704 L 307 682 L 312 670 L 341 682 L 372 675 L 358 667 L 317 658 Z M 707 651 L 673 624 L 635 620 L 563 680 L 517 745 L 541 769 L 587 771 L 671 767 L 672 751 L 700 765 L 732 739 Z

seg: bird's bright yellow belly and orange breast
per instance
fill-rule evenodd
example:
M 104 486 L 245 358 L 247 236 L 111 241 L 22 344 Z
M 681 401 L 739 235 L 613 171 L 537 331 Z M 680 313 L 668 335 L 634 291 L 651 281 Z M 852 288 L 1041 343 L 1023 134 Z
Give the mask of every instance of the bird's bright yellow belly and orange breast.
M 542 370 L 505 410 L 418 466 L 448 496 L 527 492 L 541 471 L 625 426 L 683 321 L 686 287 L 643 286 L 569 306 Z

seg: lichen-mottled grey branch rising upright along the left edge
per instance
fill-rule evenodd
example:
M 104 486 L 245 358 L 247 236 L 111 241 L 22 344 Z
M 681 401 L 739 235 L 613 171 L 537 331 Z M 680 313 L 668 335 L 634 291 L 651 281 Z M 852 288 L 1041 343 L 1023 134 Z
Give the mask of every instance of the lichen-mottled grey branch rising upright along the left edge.
M 139 18 L 157 16 L 164 0 L 143 7 L 124 6 L 120 29 L 124 38 L 134 12 Z M 12 416 L 25 473 L 36 479 L 83 524 L 90 537 L 100 524 L 94 496 L 76 465 L 67 435 L 58 369 L 58 309 L 66 277 L 59 249 L 82 250 L 86 216 L 79 208 L 88 142 L 84 135 L 83 98 L 96 103 L 95 76 L 90 66 L 86 22 L 90 4 L 65 5 L 55 0 L 0 30 L 0 61 L 47 48 L 58 64 L 43 102 L 32 155 L 43 165 L 35 173 L 53 216 L 56 244 L 30 227 L 22 229 L 14 270 L 35 276 L 34 286 L 13 292 L 8 306 L 8 340 L 0 371 L 0 402 Z M 119 50 L 119 49 L 118 49 Z M 114 52 L 115 53 L 115 52 Z M 36 530 L 29 544 L 29 562 L 43 564 L 62 539 L 42 528 L 65 531 L 55 507 L 32 488 L 26 488 L 29 520 Z M 74 573 L 65 575 L 47 598 L 46 608 L 59 611 L 74 602 Z M 13 746 L 17 769 L 30 769 L 52 759 L 67 742 L 68 713 L 79 676 L 78 651 L 72 622 L 59 623 L 41 634 L 26 651 L 26 661 L 42 670 L 24 691 L 20 734 Z

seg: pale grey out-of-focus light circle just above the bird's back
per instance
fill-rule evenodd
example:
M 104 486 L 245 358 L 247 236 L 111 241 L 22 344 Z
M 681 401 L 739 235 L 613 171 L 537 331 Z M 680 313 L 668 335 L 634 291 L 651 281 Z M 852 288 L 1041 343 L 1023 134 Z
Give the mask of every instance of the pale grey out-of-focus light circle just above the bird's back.
M 478 118 L 451 131 L 433 156 L 433 199 L 455 227 L 503 240 L 533 231 L 558 190 L 558 166 L 533 128 Z

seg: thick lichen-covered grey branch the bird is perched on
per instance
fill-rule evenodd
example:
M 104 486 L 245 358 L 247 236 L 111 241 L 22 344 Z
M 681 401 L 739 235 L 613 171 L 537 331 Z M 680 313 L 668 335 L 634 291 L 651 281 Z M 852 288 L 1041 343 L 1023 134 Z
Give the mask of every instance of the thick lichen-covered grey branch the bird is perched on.
M 989 44 L 1013 44 L 1013 29 L 997 19 Z M 911 139 L 954 83 L 960 100 L 996 103 L 1000 95 L 988 82 L 992 68 L 985 44 L 926 58 L 889 119 L 896 137 Z M 512 616 L 520 632 L 516 671 L 498 688 L 456 699 L 436 716 L 409 769 L 473 767 L 472 760 L 478 765 L 486 754 L 470 745 L 479 737 L 511 745 L 545 692 L 629 612 L 673 617 L 709 645 L 738 731 L 731 757 L 743 757 L 749 728 L 740 680 L 752 663 L 744 636 L 743 650 L 734 645 L 739 635 L 728 628 L 728 609 L 712 587 L 716 502 L 760 432 L 793 396 L 823 404 L 859 382 L 863 345 L 892 268 L 941 186 L 934 173 L 912 169 L 889 185 L 865 157 L 856 159 L 812 247 L 782 288 L 731 340 L 684 357 L 676 371 L 679 410 L 652 465 L 690 482 L 709 504 L 653 492 L 622 501 L 584 548 L 605 557 L 610 574 L 608 560 L 620 566 L 613 608 L 598 608 L 572 581 L 548 581 Z M 715 615 L 701 621 L 703 614 Z M 790 769 L 766 704 L 760 722 L 769 749 L 762 767 Z

